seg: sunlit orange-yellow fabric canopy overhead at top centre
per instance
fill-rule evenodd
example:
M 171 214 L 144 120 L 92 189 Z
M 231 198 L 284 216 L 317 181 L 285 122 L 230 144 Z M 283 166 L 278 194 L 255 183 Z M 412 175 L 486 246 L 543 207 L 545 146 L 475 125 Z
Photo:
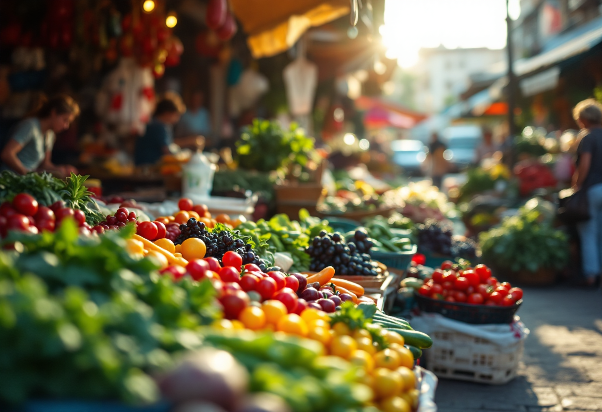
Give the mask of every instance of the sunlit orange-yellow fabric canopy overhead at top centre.
M 230 0 L 253 57 L 287 51 L 310 27 L 350 12 L 349 0 Z

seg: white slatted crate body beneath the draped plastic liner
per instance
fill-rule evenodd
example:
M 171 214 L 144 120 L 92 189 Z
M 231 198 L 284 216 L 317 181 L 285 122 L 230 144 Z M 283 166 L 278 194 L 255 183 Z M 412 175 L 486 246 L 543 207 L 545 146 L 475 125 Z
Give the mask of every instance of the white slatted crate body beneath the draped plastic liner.
M 430 332 L 433 346 L 424 351 L 426 366 L 439 378 L 485 384 L 505 384 L 517 375 L 524 340 L 500 346 L 482 337 L 461 332 Z

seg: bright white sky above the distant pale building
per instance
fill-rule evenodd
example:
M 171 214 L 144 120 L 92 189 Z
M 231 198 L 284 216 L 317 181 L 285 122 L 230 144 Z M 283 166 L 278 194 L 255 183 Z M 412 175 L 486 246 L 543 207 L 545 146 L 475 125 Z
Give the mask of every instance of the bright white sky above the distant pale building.
M 520 13 L 510 0 L 510 16 Z M 386 0 L 380 28 L 387 57 L 412 67 L 420 48 L 506 46 L 506 0 Z

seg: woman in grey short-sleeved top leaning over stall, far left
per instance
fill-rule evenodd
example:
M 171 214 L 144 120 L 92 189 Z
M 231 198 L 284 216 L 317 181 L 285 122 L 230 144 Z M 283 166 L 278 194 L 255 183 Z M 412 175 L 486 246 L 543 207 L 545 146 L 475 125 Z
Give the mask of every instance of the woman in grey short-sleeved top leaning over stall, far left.
M 78 114 L 79 105 L 67 95 L 44 99 L 34 115 L 23 119 L 10 134 L 0 154 L 2 169 L 20 175 L 46 171 L 61 178 L 77 173 L 73 166 L 53 164 L 51 158 L 56 134 L 69 129 Z

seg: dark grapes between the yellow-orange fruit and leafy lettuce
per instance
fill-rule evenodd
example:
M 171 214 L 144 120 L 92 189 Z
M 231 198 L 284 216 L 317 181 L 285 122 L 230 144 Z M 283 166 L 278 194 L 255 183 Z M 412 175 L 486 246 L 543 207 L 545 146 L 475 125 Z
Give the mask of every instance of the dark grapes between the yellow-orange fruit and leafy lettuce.
M 181 233 L 176 237 L 176 245 L 181 245 L 182 242 L 191 237 L 196 237 L 205 243 L 207 248 L 206 257 L 214 257 L 218 260 L 222 260 L 223 255 L 228 252 L 236 252 L 243 258 L 243 264 L 253 263 L 259 266 L 259 269 L 265 270 L 267 266 L 265 262 L 261 260 L 249 243 L 244 243 L 244 240 L 238 239 L 240 231 L 225 231 L 222 230 L 219 233 L 213 231 L 209 232 L 203 222 L 197 222 L 194 217 L 188 219 L 188 222 L 179 226 Z

